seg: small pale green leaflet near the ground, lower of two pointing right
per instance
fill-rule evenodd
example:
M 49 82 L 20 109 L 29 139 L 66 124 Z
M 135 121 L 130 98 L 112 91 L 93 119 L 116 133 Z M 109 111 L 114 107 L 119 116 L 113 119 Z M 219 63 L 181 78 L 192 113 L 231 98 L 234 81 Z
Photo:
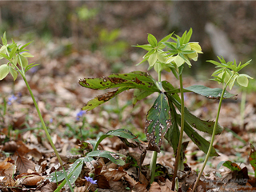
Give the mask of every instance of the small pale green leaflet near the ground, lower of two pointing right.
M 91 151 L 90 153 L 86 154 L 87 158 L 90 157 L 101 157 L 101 158 L 107 158 L 111 162 L 114 162 L 118 166 L 124 166 L 126 164 L 125 161 L 122 160 L 122 158 L 125 158 L 126 156 L 123 154 L 116 154 L 110 151 L 106 150 L 94 150 Z

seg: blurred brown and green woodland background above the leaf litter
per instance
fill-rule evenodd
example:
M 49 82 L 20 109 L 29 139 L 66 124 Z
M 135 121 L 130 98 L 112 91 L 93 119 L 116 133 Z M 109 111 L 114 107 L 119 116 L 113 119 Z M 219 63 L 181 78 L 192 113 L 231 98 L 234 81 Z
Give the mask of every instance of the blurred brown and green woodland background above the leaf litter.
M 0 34 L 9 38 L 44 42 L 67 39 L 53 56 L 72 51 L 101 51 L 114 72 L 122 63 L 139 61 L 143 50 L 131 47 L 146 43 L 147 33 L 158 39 L 172 31 L 182 34 L 193 28 L 192 41 L 204 54 L 197 66 L 207 70 L 208 59 L 256 59 L 256 2 L 253 1 L 27 1 L 0 2 Z

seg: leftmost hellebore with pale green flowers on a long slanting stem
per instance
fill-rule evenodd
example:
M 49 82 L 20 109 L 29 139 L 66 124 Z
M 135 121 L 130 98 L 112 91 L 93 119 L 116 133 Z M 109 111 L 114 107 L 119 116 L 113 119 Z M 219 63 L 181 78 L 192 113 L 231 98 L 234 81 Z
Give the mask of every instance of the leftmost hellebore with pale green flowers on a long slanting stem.
M 28 63 L 28 59 L 27 58 L 32 58 L 34 57 L 32 54 L 30 54 L 28 51 L 26 50 L 25 47 L 30 45 L 31 42 L 26 43 L 23 46 L 18 46 L 14 41 L 12 41 L 12 43 L 8 44 L 7 43 L 7 39 L 6 39 L 6 33 L 3 34 L 2 37 L 2 46 L 0 48 L 0 59 L 2 58 L 6 58 L 6 60 L 8 61 L 6 64 L 2 64 L 0 66 L 0 80 L 2 80 L 3 78 L 6 78 L 6 76 L 10 73 L 12 75 L 12 77 L 14 78 L 14 81 L 16 80 L 16 78 L 18 77 L 18 74 L 22 75 L 22 78 L 24 80 L 24 82 L 26 83 L 26 87 L 30 92 L 30 96 L 33 99 L 34 102 L 34 106 L 38 112 L 38 116 L 40 118 L 40 121 L 42 123 L 42 128 L 43 130 L 45 130 L 46 133 L 46 138 L 48 139 L 48 141 L 50 142 L 50 145 L 52 146 L 54 153 L 56 154 L 57 158 L 58 158 L 58 162 L 60 163 L 60 165 L 62 166 L 63 169 L 63 173 L 65 174 L 65 178 L 68 181 L 68 177 L 66 175 L 66 170 L 64 169 L 63 166 L 63 162 L 62 159 L 60 158 L 58 151 L 56 150 L 56 147 L 54 146 L 54 142 L 52 142 L 52 139 L 50 138 L 50 134 L 47 130 L 46 124 L 42 118 L 42 114 L 38 108 L 38 104 L 36 102 L 36 99 L 34 98 L 34 94 L 32 93 L 32 90 L 30 89 L 30 85 L 26 80 L 26 72 L 30 69 L 32 69 L 34 66 L 38 66 L 38 64 L 34 64 L 31 63 L 29 65 Z M 13 102 L 15 99 L 17 99 L 16 97 L 12 96 L 11 98 L 9 98 L 9 102 L 8 104 L 11 102 Z M 68 182 L 69 186 L 70 186 L 70 190 L 73 191 L 70 182 Z

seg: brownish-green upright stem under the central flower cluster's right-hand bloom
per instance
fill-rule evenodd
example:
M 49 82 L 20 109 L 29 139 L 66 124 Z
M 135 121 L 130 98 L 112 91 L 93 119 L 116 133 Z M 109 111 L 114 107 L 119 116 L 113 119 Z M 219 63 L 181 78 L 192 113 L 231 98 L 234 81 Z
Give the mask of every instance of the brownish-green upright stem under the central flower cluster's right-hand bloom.
M 175 158 L 175 166 L 174 166 L 174 177 L 172 181 L 172 186 L 171 190 L 174 190 L 175 187 L 175 178 L 177 177 L 177 171 L 178 171 L 178 162 L 180 158 L 180 153 L 182 150 L 182 138 L 183 138 L 183 130 L 184 130 L 184 92 L 183 92 L 183 82 L 182 82 L 182 74 L 179 75 L 179 84 L 180 84 L 180 90 L 181 90 L 181 133 L 179 135 L 178 139 L 178 149 L 176 153 L 176 158 Z

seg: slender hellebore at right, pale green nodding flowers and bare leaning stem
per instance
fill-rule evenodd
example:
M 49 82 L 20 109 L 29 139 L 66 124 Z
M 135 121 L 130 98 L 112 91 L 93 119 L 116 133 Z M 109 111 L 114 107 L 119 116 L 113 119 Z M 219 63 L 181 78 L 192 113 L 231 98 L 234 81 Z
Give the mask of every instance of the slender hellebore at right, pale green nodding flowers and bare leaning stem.
M 217 116 L 216 116 L 216 119 L 215 119 L 212 138 L 210 140 L 210 147 L 209 147 L 209 150 L 206 154 L 205 161 L 203 162 L 202 169 L 201 169 L 200 173 L 198 174 L 198 178 L 197 178 L 197 180 L 194 184 L 193 192 L 196 190 L 196 187 L 198 186 L 198 182 L 200 180 L 202 172 L 203 172 L 203 170 L 206 166 L 208 158 L 210 157 L 210 150 L 212 149 L 213 144 L 214 144 L 214 136 L 215 136 L 215 131 L 216 131 L 216 127 L 217 127 L 217 122 L 218 122 L 218 118 L 219 118 L 219 114 L 220 114 L 220 110 L 221 110 L 221 106 L 222 106 L 222 100 L 223 100 L 223 98 L 226 94 L 227 86 L 229 86 L 230 90 L 232 90 L 232 87 L 234 86 L 234 82 L 238 82 L 238 85 L 247 87 L 248 82 L 249 82 L 248 78 L 251 78 L 247 74 L 238 74 L 238 72 L 240 70 L 242 70 L 242 68 L 244 68 L 245 66 L 250 64 L 251 60 L 242 64 L 242 65 L 241 65 L 241 62 L 239 63 L 239 65 L 237 65 L 235 60 L 234 60 L 234 62 L 226 62 L 224 60 L 224 58 L 219 58 L 219 57 L 218 57 L 218 60 L 219 60 L 219 62 L 215 62 L 215 61 L 212 61 L 212 60 L 210 60 L 208 62 L 213 63 L 214 65 L 216 65 L 216 68 L 218 68 L 218 70 L 214 71 L 212 76 L 214 77 L 213 78 L 214 81 L 216 81 L 218 83 L 222 83 L 223 90 L 222 90 L 222 94 L 221 94 L 221 97 L 220 97 L 219 103 L 218 103 L 218 113 L 217 113 Z

